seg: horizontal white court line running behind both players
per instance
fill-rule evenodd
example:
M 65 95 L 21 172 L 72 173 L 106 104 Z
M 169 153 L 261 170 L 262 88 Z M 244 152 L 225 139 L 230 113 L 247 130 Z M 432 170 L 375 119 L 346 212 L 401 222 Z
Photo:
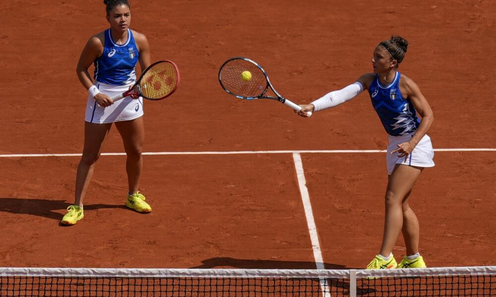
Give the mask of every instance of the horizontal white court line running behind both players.
M 496 148 L 434 148 L 434 151 L 496 151 Z M 322 150 L 240 150 L 240 151 L 157 151 L 143 155 L 196 155 L 196 154 L 257 154 L 257 153 L 377 153 L 383 149 L 322 149 Z M 103 152 L 102 156 L 124 156 L 125 152 Z M 0 154 L 1 158 L 18 157 L 80 157 L 80 153 Z

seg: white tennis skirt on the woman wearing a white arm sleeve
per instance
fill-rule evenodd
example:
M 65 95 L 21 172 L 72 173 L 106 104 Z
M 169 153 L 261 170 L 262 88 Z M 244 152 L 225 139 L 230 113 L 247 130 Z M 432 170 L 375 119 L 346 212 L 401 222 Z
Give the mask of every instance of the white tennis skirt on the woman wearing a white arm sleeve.
M 408 155 L 407 158 L 399 157 L 399 152 L 391 154 L 391 151 L 398 148 L 399 144 L 408 142 L 412 139 L 413 134 L 404 136 L 390 136 L 389 145 L 387 146 L 387 174 L 393 172 L 396 164 L 405 164 L 417 167 L 434 167 L 434 149 L 431 143 L 431 138 L 426 134 Z

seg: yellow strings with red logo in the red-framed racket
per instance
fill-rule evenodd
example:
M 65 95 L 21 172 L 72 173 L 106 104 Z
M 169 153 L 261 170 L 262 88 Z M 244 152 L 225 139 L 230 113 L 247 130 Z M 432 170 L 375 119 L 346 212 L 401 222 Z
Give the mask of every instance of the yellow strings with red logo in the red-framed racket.
M 148 99 L 162 99 L 175 91 L 178 72 L 174 64 L 158 63 L 144 74 L 140 81 L 141 94 Z

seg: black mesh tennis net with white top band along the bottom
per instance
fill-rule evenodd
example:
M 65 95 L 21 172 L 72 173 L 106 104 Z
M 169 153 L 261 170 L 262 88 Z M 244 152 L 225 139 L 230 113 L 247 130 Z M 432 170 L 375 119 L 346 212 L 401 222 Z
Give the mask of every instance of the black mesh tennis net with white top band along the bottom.
M 496 266 L 389 270 L 0 268 L 0 296 L 496 296 Z

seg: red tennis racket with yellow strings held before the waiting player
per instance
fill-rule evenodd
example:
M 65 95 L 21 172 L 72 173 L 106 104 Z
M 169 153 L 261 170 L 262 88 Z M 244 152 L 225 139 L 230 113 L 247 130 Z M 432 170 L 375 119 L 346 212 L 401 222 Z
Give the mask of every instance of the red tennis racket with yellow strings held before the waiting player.
M 172 61 L 158 61 L 148 66 L 128 91 L 111 99 L 115 102 L 126 96 L 137 95 L 149 100 L 161 100 L 176 92 L 179 69 Z

